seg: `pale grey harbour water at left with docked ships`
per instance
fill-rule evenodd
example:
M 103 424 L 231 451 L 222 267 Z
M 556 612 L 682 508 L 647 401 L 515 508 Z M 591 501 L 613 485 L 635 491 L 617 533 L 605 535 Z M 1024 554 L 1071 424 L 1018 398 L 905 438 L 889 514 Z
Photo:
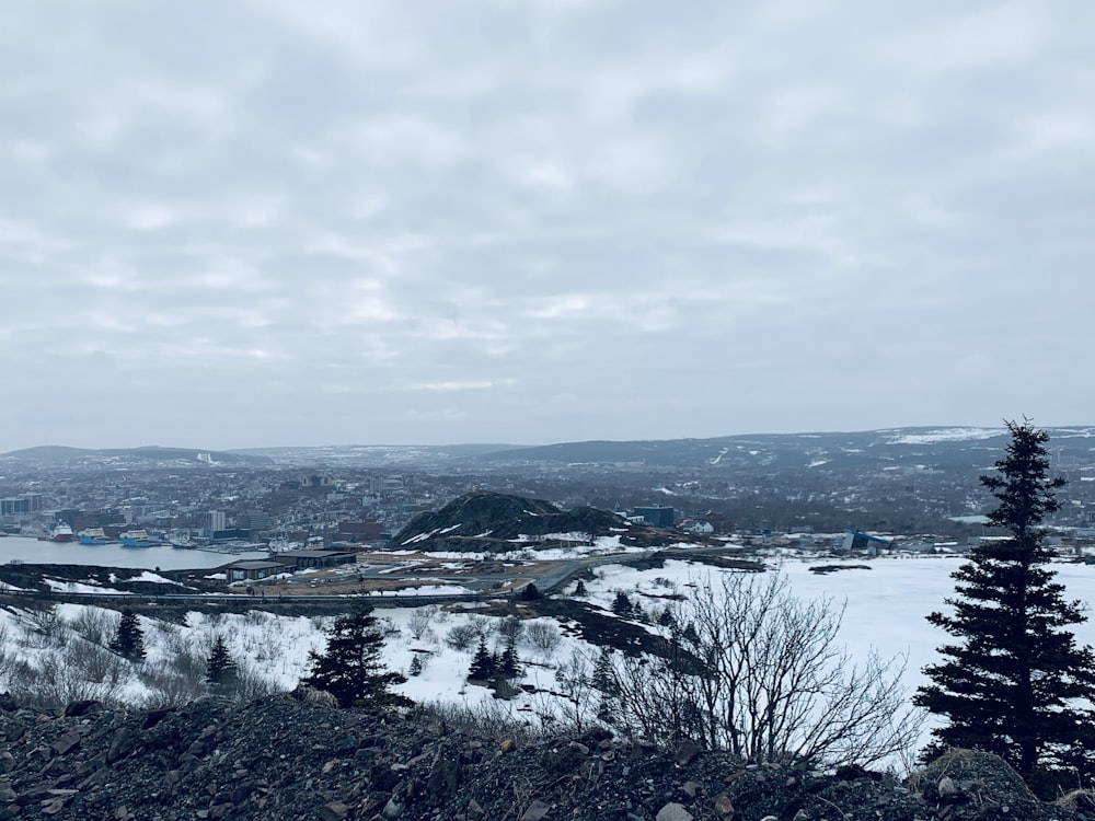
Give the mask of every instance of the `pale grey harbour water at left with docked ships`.
M 241 558 L 266 558 L 265 552 L 214 553 L 177 547 L 123 547 L 120 544 L 39 542 L 26 536 L 0 539 L 0 564 L 94 565 L 152 570 L 189 570 L 220 567 Z

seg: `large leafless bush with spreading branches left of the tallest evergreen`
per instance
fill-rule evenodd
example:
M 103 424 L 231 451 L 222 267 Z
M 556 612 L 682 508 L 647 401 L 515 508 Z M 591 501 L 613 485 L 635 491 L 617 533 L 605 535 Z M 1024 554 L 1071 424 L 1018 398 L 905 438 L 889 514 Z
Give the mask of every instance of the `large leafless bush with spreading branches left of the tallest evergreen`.
M 922 726 L 903 659 L 853 664 L 837 644 L 842 616 L 831 600 L 796 599 L 782 576 L 707 579 L 679 608 L 668 658 L 614 658 L 613 712 L 652 739 L 688 736 L 753 761 L 900 754 Z

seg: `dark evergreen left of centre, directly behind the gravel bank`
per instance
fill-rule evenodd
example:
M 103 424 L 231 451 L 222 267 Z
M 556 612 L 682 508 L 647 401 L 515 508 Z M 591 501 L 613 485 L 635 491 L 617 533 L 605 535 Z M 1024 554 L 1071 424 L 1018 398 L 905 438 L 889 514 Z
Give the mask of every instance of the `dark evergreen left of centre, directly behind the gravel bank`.
M 309 654 L 311 669 L 301 683 L 327 691 L 339 707 L 408 706 L 410 698 L 390 689 L 406 678 L 384 668 L 380 660 L 383 646 L 384 637 L 372 608 L 345 613 L 327 631 L 326 649 Z

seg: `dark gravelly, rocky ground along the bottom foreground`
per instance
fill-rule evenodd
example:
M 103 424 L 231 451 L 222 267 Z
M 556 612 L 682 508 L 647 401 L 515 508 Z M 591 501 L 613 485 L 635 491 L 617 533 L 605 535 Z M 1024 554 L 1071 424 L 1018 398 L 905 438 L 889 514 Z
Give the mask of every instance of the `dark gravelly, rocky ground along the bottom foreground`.
M 0 819 L 1084 821 L 995 756 L 956 751 L 900 783 L 744 765 L 593 732 L 529 744 L 290 695 L 62 715 L 0 697 Z

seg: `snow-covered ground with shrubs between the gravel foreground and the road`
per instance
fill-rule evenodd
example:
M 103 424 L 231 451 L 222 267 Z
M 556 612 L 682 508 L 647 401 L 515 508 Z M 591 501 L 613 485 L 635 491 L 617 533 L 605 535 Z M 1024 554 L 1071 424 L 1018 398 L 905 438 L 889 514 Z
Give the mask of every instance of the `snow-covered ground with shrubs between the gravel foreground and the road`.
M 911 692 L 922 682 L 920 670 L 933 660 L 944 636 L 924 620 L 952 593 L 949 573 L 956 558 L 885 558 L 818 575 L 816 563 L 788 560 L 777 571 L 787 576 L 792 590 L 804 599 L 829 598 L 844 608 L 840 640 L 854 659 L 872 648 L 884 656 L 907 655 L 904 684 Z M 1073 598 L 1095 600 L 1095 568 L 1057 565 L 1060 579 Z M 583 601 L 611 617 L 619 592 L 639 602 L 649 622 L 672 597 L 688 597 L 695 585 L 707 585 L 713 574 L 728 573 L 685 560 L 668 560 L 654 569 L 620 564 L 603 565 L 584 581 Z M 573 594 L 575 585 L 569 592 Z M 528 718 L 565 709 L 552 706 L 560 695 L 560 669 L 577 662 L 591 666 L 598 648 L 581 637 L 575 625 L 519 611 L 518 627 L 507 620 L 486 616 L 482 606 L 429 605 L 381 609 L 385 628 L 384 661 L 407 675 L 399 687 L 417 702 L 442 702 L 458 707 L 492 709 Z M 246 694 L 290 690 L 306 673 L 308 655 L 324 646 L 323 629 L 330 617 L 288 617 L 253 611 L 245 614 L 189 613 L 175 624 L 140 616 L 147 659 L 131 664 L 105 649 L 117 623 L 111 610 L 79 604 L 53 611 L 0 610 L 0 686 L 30 691 L 39 699 L 99 698 L 120 704 L 163 704 L 185 701 L 204 692 L 205 659 L 217 636 L 228 643 L 240 666 Z M 634 624 L 652 636 L 664 628 Z M 480 634 L 500 648 L 507 631 L 516 636 L 523 666 L 519 689 L 499 702 L 485 686 L 465 681 Z M 1081 641 L 1095 644 L 1095 625 L 1079 625 Z M 412 669 L 412 660 L 419 662 Z M 412 674 L 414 673 L 414 674 Z

